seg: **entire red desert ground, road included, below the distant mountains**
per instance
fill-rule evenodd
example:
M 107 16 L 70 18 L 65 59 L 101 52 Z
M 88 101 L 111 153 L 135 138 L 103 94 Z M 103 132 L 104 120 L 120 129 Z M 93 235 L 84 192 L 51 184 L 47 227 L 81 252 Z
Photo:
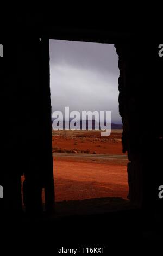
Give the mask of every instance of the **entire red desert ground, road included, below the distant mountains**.
M 128 159 L 121 136 L 121 129 L 108 137 L 100 131 L 52 130 L 55 200 L 127 199 Z

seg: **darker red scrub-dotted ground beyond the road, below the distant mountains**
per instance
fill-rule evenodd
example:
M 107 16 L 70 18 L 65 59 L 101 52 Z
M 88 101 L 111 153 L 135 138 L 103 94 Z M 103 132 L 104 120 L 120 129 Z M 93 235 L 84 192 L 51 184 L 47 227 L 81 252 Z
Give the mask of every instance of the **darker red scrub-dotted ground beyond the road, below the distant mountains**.
M 101 137 L 99 131 L 53 131 L 53 151 L 89 150 L 97 154 L 122 154 L 122 130 L 113 130 L 108 137 Z

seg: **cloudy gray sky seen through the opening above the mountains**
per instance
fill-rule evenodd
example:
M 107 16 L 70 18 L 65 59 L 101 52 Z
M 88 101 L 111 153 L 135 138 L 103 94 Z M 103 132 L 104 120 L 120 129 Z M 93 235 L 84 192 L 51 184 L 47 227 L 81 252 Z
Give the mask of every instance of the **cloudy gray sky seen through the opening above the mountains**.
M 122 123 L 114 45 L 50 40 L 50 68 L 52 112 L 111 111 L 111 123 Z

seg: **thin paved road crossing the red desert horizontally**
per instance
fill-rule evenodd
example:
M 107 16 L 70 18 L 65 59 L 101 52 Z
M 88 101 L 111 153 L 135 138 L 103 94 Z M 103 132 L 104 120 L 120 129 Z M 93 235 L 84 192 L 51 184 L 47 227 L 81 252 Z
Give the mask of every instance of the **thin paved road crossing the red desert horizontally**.
M 82 157 L 87 159 L 119 159 L 127 160 L 127 155 L 85 154 L 85 153 L 53 153 L 55 157 Z

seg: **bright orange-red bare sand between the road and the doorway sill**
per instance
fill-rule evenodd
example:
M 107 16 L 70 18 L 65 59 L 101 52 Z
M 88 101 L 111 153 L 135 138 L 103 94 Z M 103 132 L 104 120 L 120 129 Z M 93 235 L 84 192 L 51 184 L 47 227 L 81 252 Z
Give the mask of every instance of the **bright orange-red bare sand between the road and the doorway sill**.
M 54 160 L 55 199 L 127 198 L 126 164 Z

